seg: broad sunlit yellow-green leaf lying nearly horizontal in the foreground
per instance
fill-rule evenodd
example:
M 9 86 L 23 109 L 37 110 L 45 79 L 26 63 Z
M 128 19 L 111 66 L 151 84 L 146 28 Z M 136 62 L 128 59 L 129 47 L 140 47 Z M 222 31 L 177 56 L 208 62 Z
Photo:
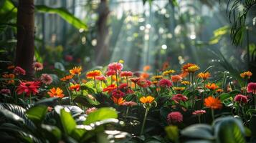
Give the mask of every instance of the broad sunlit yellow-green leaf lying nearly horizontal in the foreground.
M 85 120 L 84 124 L 91 124 L 93 122 L 98 122 L 103 119 L 116 119 L 118 118 L 118 113 L 113 108 L 104 107 L 96 110 L 95 112 L 91 112 L 88 114 L 87 119 Z

